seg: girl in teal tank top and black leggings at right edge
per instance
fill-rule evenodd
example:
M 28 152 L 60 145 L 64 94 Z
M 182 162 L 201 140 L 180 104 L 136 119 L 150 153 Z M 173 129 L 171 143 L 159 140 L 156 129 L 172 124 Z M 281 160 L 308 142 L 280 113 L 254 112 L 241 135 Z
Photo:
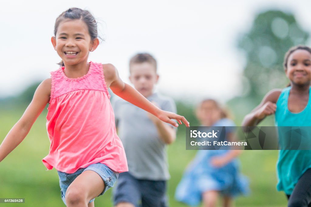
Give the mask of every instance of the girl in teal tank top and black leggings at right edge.
M 281 127 L 311 126 L 311 48 L 291 48 L 285 55 L 284 68 L 290 87 L 270 91 L 242 123 L 256 126 L 275 113 L 280 143 L 290 139 L 281 133 Z M 306 133 L 311 141 L 311 130 Z M 311 207 L 311 150 L 280 150 L 277 174 L 277 190 L 285 192 L 288 206 Z

